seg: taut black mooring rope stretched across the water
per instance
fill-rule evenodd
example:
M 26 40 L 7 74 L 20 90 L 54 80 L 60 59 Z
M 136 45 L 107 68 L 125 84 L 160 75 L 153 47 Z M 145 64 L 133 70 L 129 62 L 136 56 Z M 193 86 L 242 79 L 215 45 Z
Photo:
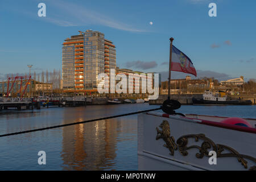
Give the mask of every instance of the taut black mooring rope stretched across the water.
M 110 117 L 98 118 L 98 119 L 90 119 L 90 120 L 87 120 L 87 121 L 81 121 L 81 122 L 75 122 L 75 123 L 68 123 L 68 124 L 65 124 L 65 125 L 57 125 L 57 126 L 51 126 L 51 127 L 43 127 L 43 128 L 41 128 L 41 129 L 34 129 L 34 130 L 27 130 L 27 131 L 19 131 L 19 132 L 15 132 L 15 133 L 3 134 L 3 135 L 0 135 L 0 137 L 7 137 L 7 136 L 11 136 L 11 135 L 19 135 L 19 134 L 31 133 L 31 132 L 35 132 L 35 131 L 56 129 L 56 128 L 58 128 L 58 127 L 72 126 L 72 125 L 78 125 L 78 124 L 81 124 L 81 123 L 89 123 L 89 122 L 100 121 L 100 120 L 104 120 L 104 119 L 118 118 L 118 117 L 123 117 L 123 116 L 126 116 L 126 115 L 133 115 L 133 114 L 145 113 L 145 112 L 154 111 L 154 110 L 160 110 L 160 109 L 161 109 L 161 108 L 149 109 L 149 110 L 142 110 L 142 111 L 137 111 L 137 112 L 134 112 L 134 113 L 113 115 L 113 116 L 110 116 Z

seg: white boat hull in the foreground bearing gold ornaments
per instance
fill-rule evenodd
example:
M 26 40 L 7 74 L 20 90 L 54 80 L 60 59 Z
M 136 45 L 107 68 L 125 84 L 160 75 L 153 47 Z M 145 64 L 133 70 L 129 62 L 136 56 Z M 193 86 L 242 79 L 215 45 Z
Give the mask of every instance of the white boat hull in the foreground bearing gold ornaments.
M 156 135 L 159 135 L 156 128 L 162 132 L 163 129 L 160 126 L 163 121 L 168 122 L 170 126 L 170 137 L 174 138 L 174 143 L 177 147 L 173 150 L 173 155 L 171 154 L 171 150 L 169 148 L 164 147 L 167 142 L 163 138 L 156 139 Z M 152 114 L 140 114 L 138 116 L 138 169 L 255 169 L 256 135 L 254 129 L 250 128 L 246 131 L 238 131 L 238 129 L 241 127 L 236 126 L 232 129 L 228 129 L 220 126 L 205 125 L 201 121 L 201 119 L 185 118 L 174 115 L 170 116 L 170 118 L 165 118 Z M 199 137 L 198 141 L 196 141 L 195 136 L 201 137 Z M 187 140 L 187 144 L 184 142 L 185 140 Z M 204 148 L 207 145 L 209 148 Z M 228 148 L 224 147 L 224 150 L 221 151 L 222 145 L 227 146 Z M 183 148 L 189 146 L 197 147 Z M 218 146 L 218 149 L 214 149 L 216 146 Z M 210 156 L 203 155 L 200 158 L 200 148 L 206 149 L 205 154 L 207 153 L 207 155 L 209 151 L 220 151 L 221 157 L 216 158 L 217 164 L 209 164 Z M 187 155 L 184 155 L 186 152 Z M 241 162 L 238 162 L 239 156 L 237 154 L 243 155 L 242 162 L 246 161 L 247 164 L 243 166 Z M 246 156 L 250 156 L 253 160 L 247 159 Z

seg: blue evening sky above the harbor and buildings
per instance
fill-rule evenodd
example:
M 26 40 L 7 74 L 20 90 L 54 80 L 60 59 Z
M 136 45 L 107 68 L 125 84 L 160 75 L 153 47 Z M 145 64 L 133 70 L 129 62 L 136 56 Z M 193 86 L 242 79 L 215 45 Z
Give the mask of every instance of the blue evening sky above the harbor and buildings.
M 46 17 L 38 4 L 46 4 Z M 210 17 L 209 3 L 217 5 Z M 64 39 L 92 29 L 117 49 L 117 66 L 159 72 L 166 80 L 170 38 L 199 77 L 256 78 L 256 1 L 0 1 L 0 78 L 61 69 Z M 172 78 L 185 73 L 172 72 Z M 195 78 L 192 76 L 192 78 Z

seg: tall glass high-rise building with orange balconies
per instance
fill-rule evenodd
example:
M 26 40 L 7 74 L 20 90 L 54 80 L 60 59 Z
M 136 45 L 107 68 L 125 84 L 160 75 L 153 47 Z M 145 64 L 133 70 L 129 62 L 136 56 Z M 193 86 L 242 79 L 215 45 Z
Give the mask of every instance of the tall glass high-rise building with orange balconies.
M 79 31 L 65 39 L 62 53 L 63 89 L 71 92 L 97 92 L 98 74 L 116 67 L 113 42 L 98 31 Z

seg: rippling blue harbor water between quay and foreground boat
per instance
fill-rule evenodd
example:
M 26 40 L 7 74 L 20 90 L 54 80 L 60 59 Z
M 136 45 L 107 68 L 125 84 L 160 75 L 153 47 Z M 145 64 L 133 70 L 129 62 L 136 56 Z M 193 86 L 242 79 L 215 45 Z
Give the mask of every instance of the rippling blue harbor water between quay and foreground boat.
M 0 111 L 0 134 L 154 109 L 122 104 Z M 184 114 L 256 118 L 256 105 L 182 105 Z M 38 152 L 46 152 L 46 165 Z M 0 170 L 137 170 L 137 115 L 0 138 Z

